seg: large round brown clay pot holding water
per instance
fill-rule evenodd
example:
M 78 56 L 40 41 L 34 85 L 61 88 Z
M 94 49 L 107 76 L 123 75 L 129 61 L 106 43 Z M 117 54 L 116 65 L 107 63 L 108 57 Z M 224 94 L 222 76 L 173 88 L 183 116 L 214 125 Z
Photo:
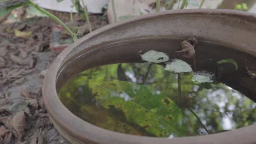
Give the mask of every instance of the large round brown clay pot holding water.
M 181 41 L 196 35 L 256 56 L 256 15 L 235 10 L 187 9 L 135 17 L 100 28 L 70 45 L 55 59 L 45 76 L 43 98 L 51 121 L 71 143 L 256 143 L 256 125 L 205 136 L 156 138 L 121 134 L 96 127 L 71 113 L 57 92 L 68 79 L 97 65 L 137 61 L 140 51 L 173 52 L 172 43 L 133 45 L 128 40 L 162 37 Z M 117 46 L 119 45 L 119 46 Z M 179 44 L 177 44 L 179 45 Z M 207 49 L 207 47 L 205 47 Z

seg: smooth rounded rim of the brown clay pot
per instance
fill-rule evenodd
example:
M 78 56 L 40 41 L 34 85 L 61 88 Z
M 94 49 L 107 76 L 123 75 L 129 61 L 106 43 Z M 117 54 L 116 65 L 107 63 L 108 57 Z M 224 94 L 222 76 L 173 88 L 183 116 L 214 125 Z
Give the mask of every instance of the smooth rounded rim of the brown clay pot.
M 256 14 L 247 13 L 244 11 L 237 11 L 237 10 L 226 10 L 226 9 L 183 9 L 183 10 L 170 10 L 170 11 L 163 11 L 160 13 L 143 15 L 138 17 L 133 17 L 129 20 L 113 23 L 108 26 L 104 26 L 100 29 L 97 29 L 94 32 L 91 32 L 85 35 L 83 38 L 80 38 L 75 43 L 69 45 L 65 50 L 63 50 L 59 56 L 56 57 L 54 62 L 51 64 L 50 68 L 45 75 L 44 82 L 43 82 L 43 99 L 45 103 L 45 107 L 48 110 L 48 113 L 51 117 L 51 120 L 57 124 L 61 130 L 68 133 L 68 135 L 75 137 L 80 142 L 84 141 L 92 141 L 95 143 L 156 143 L 156 141 L 161 141 L 163 143 L 178 142 L 178 143 L 209 143 L 210 141 L 215 139 L 217 141 L 225 140 L 226 136 L 238 136 L 237 139 L 242 139 L 242 136 L 248 138 L 248 134 L 243 134 L 246 131 L 252 133 L 256 133 L 256 125 L 250 125 L 249 127 L 240 128 L 237 130 L 232 130 L 228 132 L 223 132 L 221 134 L 211 134 L 206 136 L 190 136 L 190 137 L 178 137 L 176 139 L 168 139 L 163 137 L 147 137 L 147 136 L 136 136 L 136 135 L 129 135 L 123 133 L 117 133 L 115 131 L 106 130 L 95 125 L 92 125 L 86 121 L 83 121 L 79 117 L 75 116 L 72 112 L 70 112 L 65 105 L 63 105 L 58 97 L 56 92 L 56 78 L 58 72 L 62 64 L 65 62 L 65 57 L 71 52 L 74 47 L 81 45 L 84 41 L 90 40 L 91 38 L 97 37 L 97 35 L 110 31 L 112 28 L 117 28 L 120 26 L 124 26 L 127 23 L 132 23 L 139 20 L 150 19 L 156 16 L 164 16 L 164 15 L 173 15 L 173 14 L 209 14 L 209 15 L 229 15 L 229 16 L 238 16 L 243 17 L 249 21 L 256 21 Z M 71 123 L 73 122 L 73 123 Z M 86 138 L 87 137 L 87 138 Z M 90 137 L 90 139 L 88 139 Z M 204 139 L 204 142 L 200 142 L 199 139 Z M 219 138 L 222 137 L 222 138 Z M 115 142 L 115 140 L 117 140 Z M 256 139 L 254 139 L 254 142 Z M 235 142 L 235 141 L 232 141 Z M 217 142 L 218 143 L 218 142 Z

